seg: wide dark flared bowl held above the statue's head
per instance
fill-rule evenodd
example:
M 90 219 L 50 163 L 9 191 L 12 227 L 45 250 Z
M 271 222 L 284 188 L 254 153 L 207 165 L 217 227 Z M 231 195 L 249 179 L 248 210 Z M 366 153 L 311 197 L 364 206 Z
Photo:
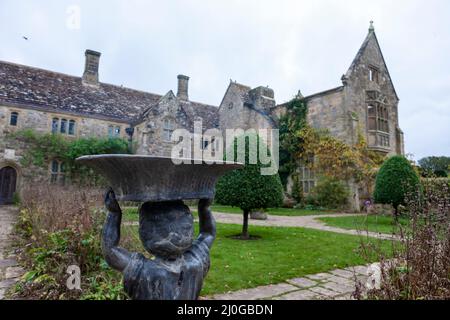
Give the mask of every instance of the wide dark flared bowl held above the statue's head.
M 76 161 L 103 175 L 118 200 L 136 202 L 212 199 L 217 179 L 243 167 L 240 163 L 202 160 L 175 164 L 176 160 L 182 159 L 105 154 Z

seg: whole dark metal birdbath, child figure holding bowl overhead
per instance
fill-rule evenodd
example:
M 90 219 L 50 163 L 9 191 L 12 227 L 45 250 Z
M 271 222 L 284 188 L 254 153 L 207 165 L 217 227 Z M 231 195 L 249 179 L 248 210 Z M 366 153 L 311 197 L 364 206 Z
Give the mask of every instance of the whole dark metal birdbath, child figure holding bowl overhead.
M 215 184 L 220 176 L 242 165 L 203 161 L 176 165 L 172 158 L 141 155 L 84 156 L 77 161 L 103 175 L 111 185 L 105 196 L 108 216 L 102 251 L 106 262 L 123 273 L 130 298 L 198 299 L 216 237 L 209 210 Z M 142 203 L 139 236 L 152 259 L 119 246 L 122 210 L 118 200 Z M 199 200 L 200 232 L 195 240 L 194 218 L 183 200 Z

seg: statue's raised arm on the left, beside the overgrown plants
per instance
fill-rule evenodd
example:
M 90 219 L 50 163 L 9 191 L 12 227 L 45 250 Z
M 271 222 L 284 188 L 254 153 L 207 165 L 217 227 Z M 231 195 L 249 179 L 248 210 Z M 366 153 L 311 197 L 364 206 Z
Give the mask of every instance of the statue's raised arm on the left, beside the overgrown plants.
M 108 210 L 108 216 L 103 227 L 103 256 L 112 268 L 123 271 L 131 260 L 131 253 L 118 246 L 120 241 L 122 210 L 117 203 L 116 196 L 112 189 L 109 189 L 106 193 L 105 206 Z

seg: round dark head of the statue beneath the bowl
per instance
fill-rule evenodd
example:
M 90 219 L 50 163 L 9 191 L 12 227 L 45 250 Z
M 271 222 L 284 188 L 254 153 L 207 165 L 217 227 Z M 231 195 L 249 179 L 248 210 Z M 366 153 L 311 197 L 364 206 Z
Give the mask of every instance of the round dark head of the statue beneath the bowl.
M 182 201 L 144 203 L 139 211 L 139 235 L 145 249 L 174 259 L 192 246 L 194 219 Z

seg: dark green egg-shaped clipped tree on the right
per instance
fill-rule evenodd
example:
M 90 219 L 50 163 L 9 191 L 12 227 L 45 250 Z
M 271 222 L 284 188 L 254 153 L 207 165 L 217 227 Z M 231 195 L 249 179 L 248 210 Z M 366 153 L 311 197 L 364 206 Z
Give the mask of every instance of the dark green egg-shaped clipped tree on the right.
M 420 189 L 420 180 L 411 163 L 403 156 L 385 161 L 375 182 L 376 203 L 391 204 L 398 215 L 398 206 L 405 204 L 405 197 Z

